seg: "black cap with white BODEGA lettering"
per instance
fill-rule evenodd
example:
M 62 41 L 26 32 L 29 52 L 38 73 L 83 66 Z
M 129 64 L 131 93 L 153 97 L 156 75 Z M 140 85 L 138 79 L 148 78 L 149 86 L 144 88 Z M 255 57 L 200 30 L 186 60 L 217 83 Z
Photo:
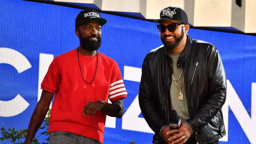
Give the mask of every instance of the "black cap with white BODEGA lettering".
M 96 10 L 88 9 L 78 13 L 77 18 L 75 19 L 75 28 L 87 21 L 98 21 L 101 26 L 107 23 L 106 19 L 100 17 L 99 12 L 97 12 Z

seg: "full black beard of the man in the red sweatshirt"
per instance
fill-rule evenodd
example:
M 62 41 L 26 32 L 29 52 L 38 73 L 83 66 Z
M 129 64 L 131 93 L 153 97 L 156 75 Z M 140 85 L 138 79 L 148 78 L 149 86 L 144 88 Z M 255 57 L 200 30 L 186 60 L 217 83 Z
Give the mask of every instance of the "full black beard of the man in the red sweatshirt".
M 80 32 L 79 32 L 79 35 L 80 35 L 81 46 L 83 47 L 83 49 L 89 50 L 89 51 L 94 51 L 94 50 L 98 50 L 100 48 L 101 38 L 99 36 L 90 35 L 90 36 L 87 36 L 86 38 L 83 38 L 81 36 Z M 98 40 L 97 41 L 92 41 L 92 40 L 89 39 L 90 37 L 96 37 Z

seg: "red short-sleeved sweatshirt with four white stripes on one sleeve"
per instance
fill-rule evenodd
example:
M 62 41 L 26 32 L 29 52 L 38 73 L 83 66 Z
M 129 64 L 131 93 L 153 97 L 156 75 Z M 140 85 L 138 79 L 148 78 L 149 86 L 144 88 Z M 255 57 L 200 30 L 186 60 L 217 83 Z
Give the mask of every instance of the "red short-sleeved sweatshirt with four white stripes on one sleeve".
M 97 56 L 79 54 L 81 71 L 85 81 L 91 82 Z M 85 116 L 82 111 L 88 102 L 105 102 L 127 97 L 117 63 L 98 52 L 98 69 L 92 84 L 83 81 L 77 51 L 71 50 L 54 58 L 41 88 L 55 94 L 50 115 L 49 132 L 66 131 L 103 142 L 106 114 L 98 111 Z

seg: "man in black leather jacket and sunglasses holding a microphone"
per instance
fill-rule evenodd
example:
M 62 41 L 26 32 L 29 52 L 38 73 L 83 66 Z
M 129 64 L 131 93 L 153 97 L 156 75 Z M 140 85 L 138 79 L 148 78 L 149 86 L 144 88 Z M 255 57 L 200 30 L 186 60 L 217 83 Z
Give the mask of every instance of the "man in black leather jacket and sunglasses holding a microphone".
M 161 10 L 158 25 L 163 46 L 144 59 L 139 104 L 155 132 L 154 144 L 218 144 L 225 135 L 221 107 L 226 76 L 217 48 L 192 39 L 187 14 L 178 7 Z M 171 110 L 181 117 L 170 129 Z

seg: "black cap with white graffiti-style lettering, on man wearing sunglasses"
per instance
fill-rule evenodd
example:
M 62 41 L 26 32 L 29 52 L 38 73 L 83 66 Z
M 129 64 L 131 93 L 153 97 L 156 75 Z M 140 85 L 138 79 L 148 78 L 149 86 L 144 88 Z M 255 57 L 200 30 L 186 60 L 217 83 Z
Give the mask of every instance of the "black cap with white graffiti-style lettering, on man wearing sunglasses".
M 161 23 L 164 20 L 174 20 L 188 24 L 188 17 L 184 10 L 179 7 L 169 6 L 160 11 L 160 19 L 155 19 L 154 22 Z

